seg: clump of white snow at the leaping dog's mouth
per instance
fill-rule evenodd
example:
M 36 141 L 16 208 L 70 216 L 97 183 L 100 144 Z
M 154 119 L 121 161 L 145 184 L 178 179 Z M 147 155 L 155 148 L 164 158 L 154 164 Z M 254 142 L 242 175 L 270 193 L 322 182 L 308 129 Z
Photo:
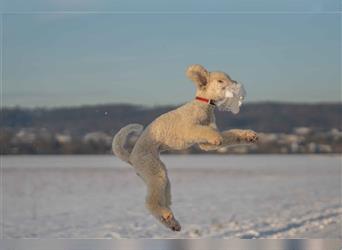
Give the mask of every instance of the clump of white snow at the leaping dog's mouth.
M 241 83 L 236 83 L 228 87 L 225 92 L 225 98 L 216 101 L 215 104 L 221 111 L 230 111 L 233 114 L 240 112 L 242 101 L 246 97 L 246 90 Z

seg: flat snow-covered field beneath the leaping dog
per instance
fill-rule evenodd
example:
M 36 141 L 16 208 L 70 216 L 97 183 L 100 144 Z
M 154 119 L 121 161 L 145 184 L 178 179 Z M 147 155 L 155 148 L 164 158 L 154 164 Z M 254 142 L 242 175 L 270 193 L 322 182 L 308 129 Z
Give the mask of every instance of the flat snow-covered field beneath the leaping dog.
M 162 156 L 171 232 L 114 156 L 5 156 L 4 238 L 342 238 L 340 156 Z

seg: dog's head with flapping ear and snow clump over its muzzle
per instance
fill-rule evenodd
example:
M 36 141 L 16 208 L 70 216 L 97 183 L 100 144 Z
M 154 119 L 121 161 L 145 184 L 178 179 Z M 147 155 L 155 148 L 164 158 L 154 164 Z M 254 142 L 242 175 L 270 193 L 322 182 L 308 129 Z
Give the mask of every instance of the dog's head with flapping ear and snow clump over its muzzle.
M 209 72 L 199 64 L 191 65 L 186 75 L 197 87 L 196 95 L 215 101 L 220 110 L 239 112 L 246 92 L 243 86 L 224 72 Z

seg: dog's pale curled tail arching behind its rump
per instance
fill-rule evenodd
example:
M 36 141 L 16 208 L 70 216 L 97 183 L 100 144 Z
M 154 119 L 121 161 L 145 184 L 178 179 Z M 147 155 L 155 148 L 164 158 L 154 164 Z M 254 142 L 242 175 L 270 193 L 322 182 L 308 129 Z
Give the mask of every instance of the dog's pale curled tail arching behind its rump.
M 144 127 L 140 124 L 129 124 L 119 130 L 113 138 L 113 153 L 121 160 L 129 162 L 129 155 L 141 135 Z

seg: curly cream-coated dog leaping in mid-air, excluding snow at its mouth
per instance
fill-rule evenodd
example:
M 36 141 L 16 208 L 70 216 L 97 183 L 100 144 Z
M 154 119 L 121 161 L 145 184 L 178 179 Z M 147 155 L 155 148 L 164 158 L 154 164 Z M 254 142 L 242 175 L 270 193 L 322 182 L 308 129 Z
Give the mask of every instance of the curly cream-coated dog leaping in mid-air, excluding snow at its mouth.
M 190 66 L 186 74 L 195 82 L 197 96 L 215 102 L 224 100 L 227 89 L 236 84 L 227 74 L 208 72 L 198 64 Z M 159 152 L 186 149 L 194 144 L 208 151 L 257 141 L 256 133 L 251 130 L 219 132 L 215 124 L 214 108 L 211 104 L 192 100 L 159 116 L 145 130 L 139 124 L 127 125 L 113 140 L 114 154 L 131 164 L 147 186 L 147 209 L 174 231 L 179 231 L 181 226 L 170 208 L 171 185 Z

